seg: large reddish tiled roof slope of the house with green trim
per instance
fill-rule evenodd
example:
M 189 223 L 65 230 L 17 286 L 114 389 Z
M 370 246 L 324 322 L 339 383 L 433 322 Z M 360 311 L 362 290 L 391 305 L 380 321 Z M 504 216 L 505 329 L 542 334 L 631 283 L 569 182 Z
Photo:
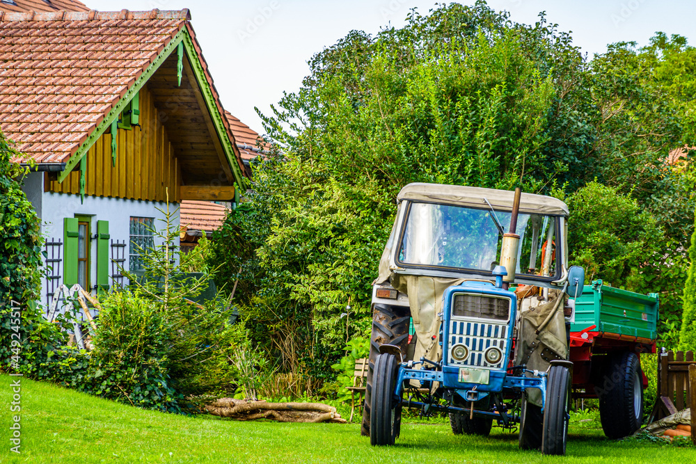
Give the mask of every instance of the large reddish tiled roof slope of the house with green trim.
M 0 11 L 0 128 L 35 161 L 67 161 L 187 19 Z

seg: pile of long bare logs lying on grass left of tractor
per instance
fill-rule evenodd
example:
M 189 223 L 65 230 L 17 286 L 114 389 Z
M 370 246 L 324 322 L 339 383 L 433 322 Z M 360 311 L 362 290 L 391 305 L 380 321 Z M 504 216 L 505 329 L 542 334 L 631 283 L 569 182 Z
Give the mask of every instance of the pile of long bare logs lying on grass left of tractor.
M 271 419 L 278 422 L 333 422 L 347 421 L 336 408 L 324 403 L 267 403 L 244 399 L 221 398 L 205 406 L 210 414 L 237 420 Z

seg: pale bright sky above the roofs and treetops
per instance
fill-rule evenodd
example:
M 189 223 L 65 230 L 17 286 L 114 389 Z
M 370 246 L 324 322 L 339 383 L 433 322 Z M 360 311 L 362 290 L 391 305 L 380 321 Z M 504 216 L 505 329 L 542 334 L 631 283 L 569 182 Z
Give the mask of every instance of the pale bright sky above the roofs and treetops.
M 434 8 L 425 0 L 82 0 L 100 11 L 191 10 L 222 104 L 260 134 L 254 107 L 271 115 L 283 92 L 299 89 L 307 61 L 351 30 L 378 33 L 400 27 L 411 8 Z M 474 1 L 461 1 L 473 4 Z M 540 11 L 592 58 L 610 43 L 647 45 L 656 31 L 679 34 L 696 44 L 696 2 L 689 0 L 489 0 L 514 22 L 533 24 Z

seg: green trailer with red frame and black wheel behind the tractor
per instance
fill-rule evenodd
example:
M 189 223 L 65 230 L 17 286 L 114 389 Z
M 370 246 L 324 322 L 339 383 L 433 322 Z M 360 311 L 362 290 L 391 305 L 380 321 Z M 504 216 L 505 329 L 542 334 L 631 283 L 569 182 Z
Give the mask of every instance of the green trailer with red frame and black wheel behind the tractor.
M 570 360 L 576 398 L 598 398 L 602 428 L 620 438 L 642 423 L 647 378 L 640 353 L 655 353 L 658 294 L 637 294 L 595 280 L 575 299 Z

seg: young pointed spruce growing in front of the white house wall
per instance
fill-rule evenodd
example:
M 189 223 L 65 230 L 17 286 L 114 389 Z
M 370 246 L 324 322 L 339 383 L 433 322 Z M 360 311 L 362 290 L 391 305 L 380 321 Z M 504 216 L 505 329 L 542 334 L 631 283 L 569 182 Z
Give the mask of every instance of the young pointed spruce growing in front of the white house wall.
M 233 391 L 236 385 L 230 371 L 219 369 L 220 362 L 226 362 L 229 346 L 235 344 L 235 333 L 229 328 L 232 311 L 221 295 L 203 304 L 193 302 L 207 287 L 213 275 L 209 269 L 214 268 L 198 267 L 197 270 L 203 272 L 195 276 L 184 272 L 203 264 L 204 257 L 172 250 L 171 243 L 179 234 L 173 222 L 175 211 L 161 212 L 165 216 L 164 225 L 152 231 L 161 244 L 141 250 L 144 274 L 139 277 L 123 271 L 129 278 L 133 295 L 146 301 L 148 311 L 160 318 L 150 321 L 146 326 L 150 334 L 145 335 L 157 333 L 168 337 L 159 347 L 159 357 L 163 362 L 166 360 L 163 367 L 171 379 L 168 387 L 178 394 L 189 397 L 218 390 Z M 205 243 L 201 253 L 207 253 Z M 139 311 L 136 310 L 136 314 Z M 217 375 L 212 376 L 212 373 Z

